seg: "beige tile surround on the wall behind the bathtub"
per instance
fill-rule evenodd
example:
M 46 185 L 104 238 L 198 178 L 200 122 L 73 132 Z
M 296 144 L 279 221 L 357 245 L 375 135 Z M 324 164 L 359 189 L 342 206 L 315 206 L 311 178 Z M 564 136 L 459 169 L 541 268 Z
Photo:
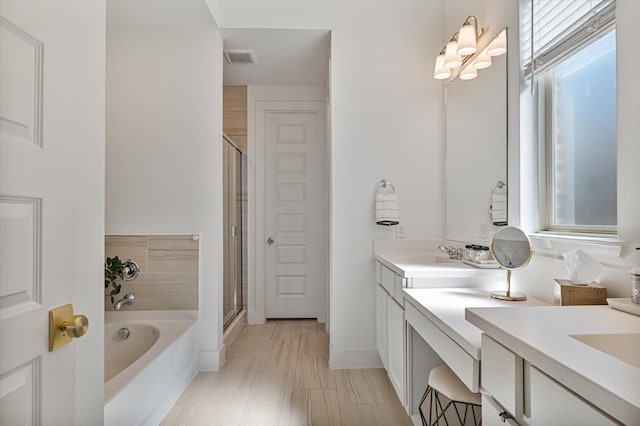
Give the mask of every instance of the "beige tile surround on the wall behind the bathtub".
M 114 256 L 140 264 L 140 275 L 125 281 L 116 296 L 131 293 L 136 298 L 123 311 L 198 309 L 199 241 L 192 234 L 107 235 L 105 257 Z M 109 296 L 105 310 L 113 310 Z

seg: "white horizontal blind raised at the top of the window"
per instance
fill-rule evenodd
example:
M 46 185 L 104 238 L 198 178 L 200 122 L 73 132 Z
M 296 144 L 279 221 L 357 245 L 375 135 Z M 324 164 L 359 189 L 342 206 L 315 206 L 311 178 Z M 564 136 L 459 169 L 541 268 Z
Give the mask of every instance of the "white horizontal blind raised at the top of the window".
M 525 76 L 544 71 L 608 30 L 615 22 L 615 5 L 615 0 L 520 0 Z

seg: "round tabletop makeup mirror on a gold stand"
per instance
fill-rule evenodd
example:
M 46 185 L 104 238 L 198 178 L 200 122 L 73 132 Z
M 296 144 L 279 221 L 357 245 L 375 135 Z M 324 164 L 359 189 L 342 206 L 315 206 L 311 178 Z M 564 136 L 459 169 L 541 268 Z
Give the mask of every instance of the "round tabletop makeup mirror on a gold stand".
M 524 293 L 511 291 L 511 271 L 522 269 L 531 260 L 531 241 L 515 226 L 501 228 L 493 236 L 491 252 L 500 266 L 507 270 L 507 291 L 493 291 L 491 297 L 500 300 L 527 300 Z

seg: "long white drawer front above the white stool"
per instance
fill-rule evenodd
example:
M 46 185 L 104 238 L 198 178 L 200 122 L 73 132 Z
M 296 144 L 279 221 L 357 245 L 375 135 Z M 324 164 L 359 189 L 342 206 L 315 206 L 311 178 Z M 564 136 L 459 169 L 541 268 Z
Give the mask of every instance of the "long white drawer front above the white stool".
M 405 303 L 405 318 L 460 380 L 472 392 L 478 392 L 480 362 L 469 355 L 411 303 Z

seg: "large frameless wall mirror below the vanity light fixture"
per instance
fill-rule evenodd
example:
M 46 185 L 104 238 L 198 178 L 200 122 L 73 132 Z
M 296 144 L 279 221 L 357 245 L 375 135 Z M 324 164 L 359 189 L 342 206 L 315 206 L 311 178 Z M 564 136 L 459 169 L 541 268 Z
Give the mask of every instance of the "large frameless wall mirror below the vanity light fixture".
M 507 55 L 492 57 L 492 65 L 475 79 L 456 78 L 445 87 L 445 239 L 450 241 L 486 245 L 500 229 L 494 222 L 506 225 Z

